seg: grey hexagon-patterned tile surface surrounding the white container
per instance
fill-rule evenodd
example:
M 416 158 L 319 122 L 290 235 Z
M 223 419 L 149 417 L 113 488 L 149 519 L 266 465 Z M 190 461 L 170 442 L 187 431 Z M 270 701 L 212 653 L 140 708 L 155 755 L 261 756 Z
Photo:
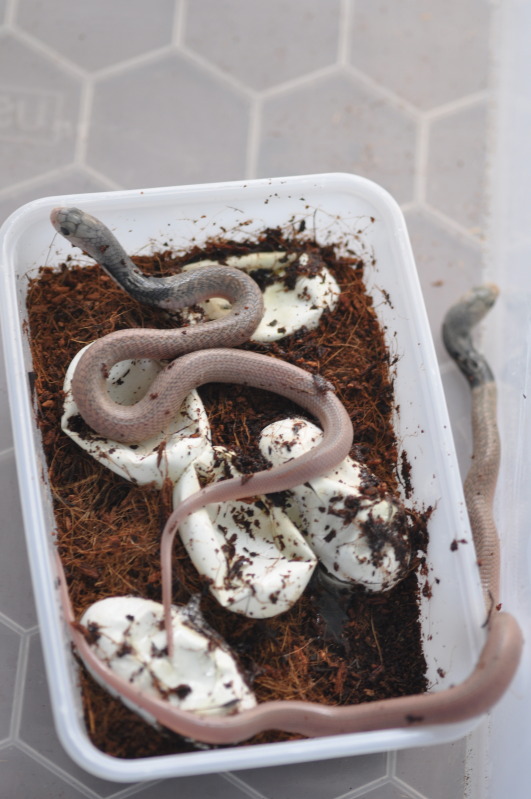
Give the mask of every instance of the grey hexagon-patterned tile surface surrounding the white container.
M 58 192 L 329 170 L 380 182 L 406 211 L 465 468 L 468 399 L 439 328 L 483 268 L 491 5 L 0 0 L 0 214 Z M 0 368 L 1 799 L 461 799 L 462 742 L 135 787 L 71 763 L 32 631 L 11 446 Z

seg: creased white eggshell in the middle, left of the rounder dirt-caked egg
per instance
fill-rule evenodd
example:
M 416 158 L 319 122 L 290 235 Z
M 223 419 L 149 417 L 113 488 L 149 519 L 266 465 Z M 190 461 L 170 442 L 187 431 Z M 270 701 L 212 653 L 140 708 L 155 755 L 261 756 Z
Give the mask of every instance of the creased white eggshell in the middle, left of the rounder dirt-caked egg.
M 198 491 L 201 480 L 239 475 L 232 460 L 220 447 L 205 452 L 177 482 L 174 507 Z M 317 565 L 304 537 L 264 496 L 207 505 L 181 522 L 179 535 L 218 602 L 252 618 L 292 607 Z

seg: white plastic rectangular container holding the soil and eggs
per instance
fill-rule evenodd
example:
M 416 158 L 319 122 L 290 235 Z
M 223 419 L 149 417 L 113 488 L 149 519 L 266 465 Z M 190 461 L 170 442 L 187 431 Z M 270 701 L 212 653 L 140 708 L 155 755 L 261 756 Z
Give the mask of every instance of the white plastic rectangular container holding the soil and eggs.
M 49 222 L 49 212 L 56 205 L 78 205 L 102 218 L 130 253 L 168 246 L 186 250 L 215 235 L 247 239 L 265 227 L 296 231 L 304 223 L 320 244 L 338 243 L 365 257 L 367 287 L 390 350 L 399 356 L 396 429 L 412 465 L 412 501 L 417 507 L 435 508 L 429 525 L 431 596 L 423 599 L 421 608 L 433 690 L 460 683 L 473 670 L 484 643 L 485 611 L 405 222 L 383 189 L 353 175 L 330 174 L 70 195 L 29 203 L 12 214 L 0 231 L 1 317 L 33 589 L 55 721 L 70 756 L 103 778 L 130 782 L 401 749 L 465 735 L 475 720 L 138 760 L 119 760 L 93 746 L 84 727 L 76 666 L 56 595 L 52 504 L 43 477 L 46 465 L 30 393 L 32 365 L 24 326 L 27 278 L 36 275 L 39 266 L 59 264 L 71 252 Z M 454 539 L 470 545 L 452 551 Z

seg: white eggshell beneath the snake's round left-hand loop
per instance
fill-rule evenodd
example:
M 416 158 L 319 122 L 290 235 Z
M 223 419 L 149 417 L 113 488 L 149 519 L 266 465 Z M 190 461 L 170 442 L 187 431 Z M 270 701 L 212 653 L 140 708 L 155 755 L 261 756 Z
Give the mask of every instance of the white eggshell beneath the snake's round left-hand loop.
M 197 392 L 188 394 L 159 435 L 139 444 L 122 444 L 103 438 L 84 425 L 80 426 L 81 417 L 72 396 L 72 377 L 85 349 L 73 358 L 65 376 L 61 418 L 64 432 L 93 458 L 126 480 L 141 485 L 153 483 L 159 488 L 168 477 L 175 482 L 210 442 L 208 417 Z M 119 404 L 132 405 L 146 393 L 161 368 L 159 362 L 147 359 L 115 364 L 107 379 L 109 396 Z

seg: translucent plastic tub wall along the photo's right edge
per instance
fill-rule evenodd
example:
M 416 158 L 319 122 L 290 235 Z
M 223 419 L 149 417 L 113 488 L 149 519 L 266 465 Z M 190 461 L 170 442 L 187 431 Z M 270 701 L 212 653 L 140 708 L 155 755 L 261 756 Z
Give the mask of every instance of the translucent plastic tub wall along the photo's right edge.
M 528 793 L 531 722 L 531 3 L 505 0 L 496 9 L 496 113 L 490 158 L 488 279 L 500 288 L 485 326 L 498 382 L 502 462 L 495 513 L 502 546 L 501 599 L 528 639 L 511 690 L 475 739 L 477 795 Z M 474 794 L 475 795 L 475 794 Z

